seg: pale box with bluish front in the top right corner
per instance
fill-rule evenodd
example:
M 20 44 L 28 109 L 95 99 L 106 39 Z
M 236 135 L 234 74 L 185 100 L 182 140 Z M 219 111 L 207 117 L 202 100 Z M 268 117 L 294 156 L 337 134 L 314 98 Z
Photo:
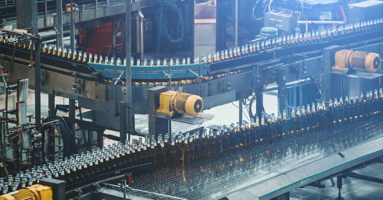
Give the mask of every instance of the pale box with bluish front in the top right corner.
M 382 17 L 383 1 L 366 0 L 348 5 L 348 23 L 377 19 Z

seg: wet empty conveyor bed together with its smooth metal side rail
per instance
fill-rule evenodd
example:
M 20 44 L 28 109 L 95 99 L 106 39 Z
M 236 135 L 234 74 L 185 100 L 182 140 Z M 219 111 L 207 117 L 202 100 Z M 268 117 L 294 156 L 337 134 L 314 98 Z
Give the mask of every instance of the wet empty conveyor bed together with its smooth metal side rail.
M 365 121 L 349 121 L 325 131 L 238 149 L 191 166 L 136 176 L 132 187 L 191 200 L 246 196 L 271 199 L 383 156 L 382 119 L 383 116 L 374 116 Z

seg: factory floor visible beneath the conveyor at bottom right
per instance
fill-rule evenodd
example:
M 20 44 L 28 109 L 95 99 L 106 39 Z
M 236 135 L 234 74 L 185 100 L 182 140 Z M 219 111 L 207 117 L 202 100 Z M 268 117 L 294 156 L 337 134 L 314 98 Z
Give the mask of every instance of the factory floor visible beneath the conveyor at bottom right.
M 383 163 L 376 163 L 363 169 L 355 171 L 358 174 L 383 179 Z M 334 200 L 338 197 L 337 180 L 334 179 L 335 186 L 331 187 L 331 181 L 325 181 L 322 184 L 323 189 L 315 187 L 299 188 L 291 191 L 290 200 Z M 344 200 L 382 200 L 383 184 L 360 179 L 343 179 L 343 188 L 341 195 Z

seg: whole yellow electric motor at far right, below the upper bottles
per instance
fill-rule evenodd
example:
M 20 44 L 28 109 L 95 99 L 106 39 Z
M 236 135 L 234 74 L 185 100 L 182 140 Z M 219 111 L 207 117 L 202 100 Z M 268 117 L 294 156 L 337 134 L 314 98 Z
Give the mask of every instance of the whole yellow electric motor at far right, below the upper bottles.
M 343 49 L 335 53 L 333 70 L 348 71 L 349 67 L 358 71 L 376 72 L 381 66 L 381 58 L 377 53 Z

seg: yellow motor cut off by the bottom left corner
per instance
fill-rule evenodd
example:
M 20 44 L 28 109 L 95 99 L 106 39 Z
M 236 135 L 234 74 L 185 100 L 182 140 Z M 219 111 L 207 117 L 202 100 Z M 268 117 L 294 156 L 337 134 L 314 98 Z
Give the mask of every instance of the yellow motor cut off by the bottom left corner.
M 0 200 L 52 200 L 52 189 L 48 186 L 33 185 L 0 196 Z

